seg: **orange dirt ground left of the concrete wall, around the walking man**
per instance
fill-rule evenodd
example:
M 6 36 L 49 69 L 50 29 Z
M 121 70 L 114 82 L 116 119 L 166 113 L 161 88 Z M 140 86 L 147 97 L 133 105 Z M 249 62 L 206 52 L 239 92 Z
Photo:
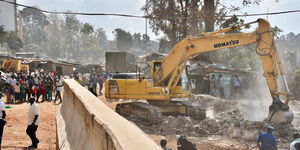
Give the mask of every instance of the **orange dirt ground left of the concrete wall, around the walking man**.
M 9 104 L 12 108 L 6 109 L 7 124 L 4 127 L 2 149 L 19 150 L 31 145 L 30 138 L 26 134 L 27 110 L 29 103 Z M 37 130 L 37 138 L 40 140 L 38 149 L 53 150 L 56 141 L 55 116 L 60 105 L 52 102 L 39 103 L 41 124 Z

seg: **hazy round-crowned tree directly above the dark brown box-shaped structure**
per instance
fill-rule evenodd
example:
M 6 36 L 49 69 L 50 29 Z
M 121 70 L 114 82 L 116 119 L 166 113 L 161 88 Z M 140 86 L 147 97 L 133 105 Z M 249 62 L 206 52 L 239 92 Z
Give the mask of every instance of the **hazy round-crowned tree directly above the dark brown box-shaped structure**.
M 133 45 L 133 38 L 129 32 L 121 28 L 117 28 L 113 31 L 117 44 L 117 49 L 120 51 L 129 51 Z

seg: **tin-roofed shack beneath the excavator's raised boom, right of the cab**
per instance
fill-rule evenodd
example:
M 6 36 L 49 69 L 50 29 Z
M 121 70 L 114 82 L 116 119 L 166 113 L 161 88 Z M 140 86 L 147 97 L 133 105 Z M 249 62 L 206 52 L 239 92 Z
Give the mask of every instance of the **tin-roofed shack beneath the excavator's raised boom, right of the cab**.
M 209 56 L 196 56 L 187 65 L 187 77 L 191 86 L 192 93 L 209 94 L 215 97 L 231 99 L 234 95 L 233 76 L 237 74 L 241 78 L 241 91 L 255 90 L 254 78 L 258 73 L 250 68 L 233 68 L 231 65 L 220 60 L 213 59 Z M 220 85 L 214 85 L 213 80 L 223 87 L 223 94 L 219 91 Z M 252 82 L 251 82 L 252 81 Z

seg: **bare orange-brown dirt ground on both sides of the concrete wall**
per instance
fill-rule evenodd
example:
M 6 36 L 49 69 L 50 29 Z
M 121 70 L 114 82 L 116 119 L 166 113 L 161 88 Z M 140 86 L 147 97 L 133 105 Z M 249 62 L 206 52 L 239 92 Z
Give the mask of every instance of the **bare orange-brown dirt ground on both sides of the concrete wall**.
M 114 109 L 115 105 L 120 101 L 106 101 L 104 96 L 98 97 L 110 108 Z M 4 128 L 2 140 L 2 149 L 17 150 L 26 149 L 31 144 L 30 138 L 26 135 L 26 122 L 28 103 L 10 104 L 12 108 L 7 108 L 7 125 Z M 45 102 L 39 103 L 41 111 L 41 124 L 37 131 L 37 137 L 40 140 L 39 149 L 52 150 L 55 149 L 56 127 L 55 116 L 60 105 Z M 299 106 L 299 105 L 298 105 Z M 299 112 L 295 112 L 295 123 L 299 124 Z M 174 131 L 175 132 L 175 131 Z M 162 136 L 159 134 L 148 134 L 158 144 L 163 138 L 168 140 L 168 146 L 176 150 L 175 135 Z M 248 150 L 256 149 L 255 142 L 241 142 L 237 139 L 230 139 L 224 136 L 212 135 L 209 137 L 188 137 L 196 144 L 199 150 Z

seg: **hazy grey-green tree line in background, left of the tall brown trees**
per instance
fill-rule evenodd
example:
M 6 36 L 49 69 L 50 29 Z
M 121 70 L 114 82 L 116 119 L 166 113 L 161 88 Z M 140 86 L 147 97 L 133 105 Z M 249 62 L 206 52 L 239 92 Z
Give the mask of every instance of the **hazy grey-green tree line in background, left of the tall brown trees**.
M 102 28 L 82 23 L 75 15 L 45 15 L 29 8 L 24 8 L 21 14 L 24 17 L 24 50 L 34 51 L 41 57 L 100 63 L 105 51 L 133 50 L 139 55 L 147 52 L 145 49 L 151 44 L 149 36 L 136 33 L 139 37 L 134 39 L 123 29 L 116 29 L 115 41 L 109 41 Z M 0 28 L 0 40 L 2 35 L 5 34 L 1 34 Z

